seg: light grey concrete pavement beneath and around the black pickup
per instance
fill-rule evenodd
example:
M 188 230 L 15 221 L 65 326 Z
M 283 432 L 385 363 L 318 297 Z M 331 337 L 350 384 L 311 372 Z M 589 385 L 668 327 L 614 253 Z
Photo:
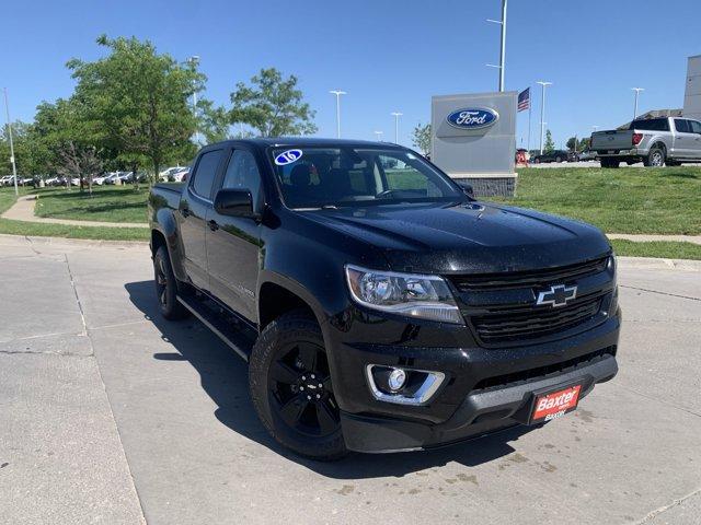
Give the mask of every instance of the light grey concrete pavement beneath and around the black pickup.
M 700 266 L 620 264 L 620 373 L 542 429 L 317 464 L 157 315 L 146 245 L 0 236 L 0 522 L 701 523 Z

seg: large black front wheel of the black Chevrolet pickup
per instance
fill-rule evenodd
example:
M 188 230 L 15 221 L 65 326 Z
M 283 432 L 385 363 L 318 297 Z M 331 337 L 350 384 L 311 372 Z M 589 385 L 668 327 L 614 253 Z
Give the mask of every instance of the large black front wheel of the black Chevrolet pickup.
M 324 462 L 348 453 L 323 336 L 309 312 L 289 312 L 265 327 L 251 353 L 249 386 L 261 422 L 279 444 Z

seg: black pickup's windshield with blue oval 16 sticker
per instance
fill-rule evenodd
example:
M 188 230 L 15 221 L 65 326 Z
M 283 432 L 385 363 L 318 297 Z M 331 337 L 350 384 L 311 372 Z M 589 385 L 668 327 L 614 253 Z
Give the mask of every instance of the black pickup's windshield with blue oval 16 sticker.
M 272 156 L 289 208 L 466 199 L 457 185 L 409 151 L 300 147 L 274 149 Z

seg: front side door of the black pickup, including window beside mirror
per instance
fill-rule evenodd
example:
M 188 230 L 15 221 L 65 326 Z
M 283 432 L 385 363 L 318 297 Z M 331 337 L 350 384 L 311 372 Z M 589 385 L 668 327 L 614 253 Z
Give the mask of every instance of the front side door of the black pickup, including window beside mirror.
M 261 174 L 251 151 L 232 150 L 221 188 L 248 189 L 253 197 L 254 211 L 262 212 Z M 207 225 L 211 292 L 231 310 L 257 323 L 255 296 L 262 249 L 261 224 L 254 219 L 221 215 L 210 209 Z

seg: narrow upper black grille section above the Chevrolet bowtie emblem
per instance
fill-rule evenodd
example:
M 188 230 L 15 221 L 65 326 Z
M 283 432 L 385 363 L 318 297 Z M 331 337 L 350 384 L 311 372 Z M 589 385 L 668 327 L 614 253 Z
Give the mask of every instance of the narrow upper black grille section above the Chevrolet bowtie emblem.
M 472 276 L 449 276 L 450 281 L 462 292 L 476 290 L 508 290 L 515 288 L 550 285 L 553 282 L 565 282 L 582 279 L 604 271 L 609 257 L 529 271 L 508 273 L 478 273 Z

